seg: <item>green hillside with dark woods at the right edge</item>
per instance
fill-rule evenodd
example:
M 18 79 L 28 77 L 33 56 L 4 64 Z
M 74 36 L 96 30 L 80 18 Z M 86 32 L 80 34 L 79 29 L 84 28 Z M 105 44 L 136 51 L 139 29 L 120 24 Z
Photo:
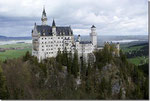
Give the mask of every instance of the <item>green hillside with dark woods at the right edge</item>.
M 148 43 L 136 43 L 122 47 L 123 52 L 128 58 L 129 62 L 135 65 L 142 65 L 148 63 Z

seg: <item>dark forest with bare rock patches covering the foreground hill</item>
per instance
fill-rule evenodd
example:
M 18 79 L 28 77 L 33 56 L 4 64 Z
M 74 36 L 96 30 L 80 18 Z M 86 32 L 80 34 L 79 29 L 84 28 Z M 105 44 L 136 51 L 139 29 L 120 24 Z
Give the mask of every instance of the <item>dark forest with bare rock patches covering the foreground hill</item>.
M 148 64 L 136 66 L 114 51 L 106 44 L 94 62 L 66 50 L 41 62 L 29 52 L 1 61 L 0 99 L 148 99 Z

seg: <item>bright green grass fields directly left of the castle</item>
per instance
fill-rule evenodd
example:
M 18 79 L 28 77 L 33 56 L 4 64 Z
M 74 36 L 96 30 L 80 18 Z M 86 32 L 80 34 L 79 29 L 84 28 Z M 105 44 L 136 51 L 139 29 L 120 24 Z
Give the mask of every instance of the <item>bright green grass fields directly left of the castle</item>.
M 6 50 L 5 52 L 0 52 L 0 60 L 5 61 L 7 59 L 18 58 L 24 56 L 27 51 L 31 53 L 32 49 L 29 48 L 31 44 L 28 43 L 17 43 L 17 44 L 7 44 L 7 45 L 0 45 L 0 48 L 24 48 L 18 50 Z

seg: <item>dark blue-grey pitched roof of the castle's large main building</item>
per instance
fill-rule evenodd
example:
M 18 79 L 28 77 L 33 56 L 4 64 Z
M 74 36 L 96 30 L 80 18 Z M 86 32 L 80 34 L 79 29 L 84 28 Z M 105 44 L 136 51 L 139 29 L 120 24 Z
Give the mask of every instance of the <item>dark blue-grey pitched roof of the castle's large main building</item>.
M 42 36 L 43 33 L 45 33 L 45 36 L 52 36 L 52 26 L 48 25 L 37 25 L 36 26 L 38 33 Z M 71 30 L 70 27 L 56 27 L 56 35 L 65 35 L 68 36 L 73 35 L 73 31 Z

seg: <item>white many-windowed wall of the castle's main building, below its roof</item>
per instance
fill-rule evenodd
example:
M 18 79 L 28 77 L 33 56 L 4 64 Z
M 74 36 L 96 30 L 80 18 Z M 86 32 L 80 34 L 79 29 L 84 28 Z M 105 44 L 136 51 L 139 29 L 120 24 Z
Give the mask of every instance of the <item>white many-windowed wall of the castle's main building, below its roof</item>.
M 37 50 L 32 49 L 32 54 L 39 59 L 45 59 L 48 57 L 56 57 L 58 50 L 60 49 L 63 52 L 65 47 L 68 52 L 71 52 L 72 39 L 73 36 L 40 36 L 37 41 L 39 44 Z M 36 47 L 36 44 L 33 44 L 33 47 Z

